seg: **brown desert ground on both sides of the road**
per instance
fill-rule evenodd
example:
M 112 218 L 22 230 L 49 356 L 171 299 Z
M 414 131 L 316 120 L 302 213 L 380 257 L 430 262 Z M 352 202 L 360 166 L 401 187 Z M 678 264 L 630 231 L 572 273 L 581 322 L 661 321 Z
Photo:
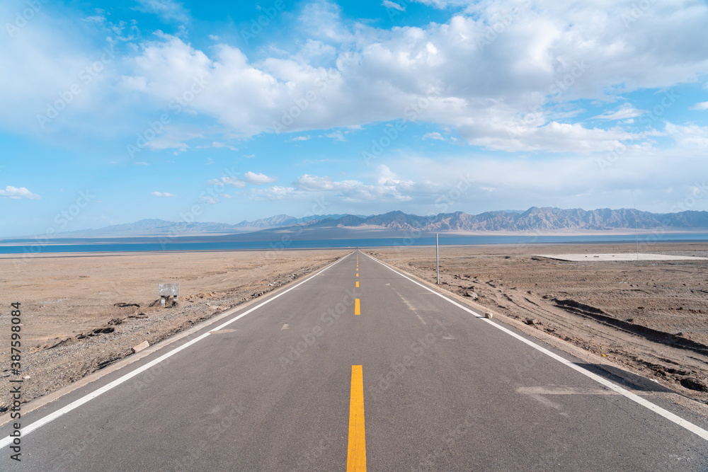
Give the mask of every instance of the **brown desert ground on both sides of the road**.
M 366 248 L 435 282 L 435 248 Z M 441 287 L 495 319 L 603 356 L 708 405 L 708 260 L 566 262 L 537 254 L 628 253 L 631 244 L 441 246 Z M 708 243 L 644 253 L 708 256 Z M 0 255 L 3 312 L 21 302 L 24 401 L 46 395 L 350 250 Z M 161 309 L 159 282 L 179 282 Z M 526 324 L 529 321 L 531 324 Z M 0 389 L 10 322 L 0 317 Z M 8 406 L 2 396 L 0 413 Z

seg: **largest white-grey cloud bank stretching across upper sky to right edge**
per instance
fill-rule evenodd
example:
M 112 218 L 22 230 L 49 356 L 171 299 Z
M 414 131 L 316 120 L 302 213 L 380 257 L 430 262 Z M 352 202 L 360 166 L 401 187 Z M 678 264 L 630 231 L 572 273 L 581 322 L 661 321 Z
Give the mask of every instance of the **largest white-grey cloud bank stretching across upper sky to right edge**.
M 708 42 L 703 28 L 706 6 L 656 4 L 643 13 L 641 22 L 625 28 L 617 18 L 631 10 L 629 1 L 605 5 L 604 11 L 593 4 L 541 1 L 514 16 L 493 41 L 486 39 L 489 25 L 513 6 L 469 4 L 467 15 L 453 16 L 447 23 L 385 31 L 363 25 L 349 28 L 338 6 L 320 1 L 302 13 L 301 19 L 308 21 L 303 24 L 317 25 L 308 39 L 336 45 L 340 59 L 355 40 L 353 55 L 336 68 L 307 62 L 309 53 L 251 62 L 241 50 L 217 45 L 207 55 L 164 36 L 144 47 L 130 77 L 144 77 L 145 93 L 169 101 L 187 89 L 193 77 L 203 76 L 208 86 L 188 106 L 239 137 L 273 132 L 273 123 L 282 125 L 284 132 L 302 132 L 407 118 L 456 129 L 470 144 L 556 152 L 569 149 L 563 144 L 568 130 L 554 122 L 551 103 L 611 100 L 618 92 L 674 86 L 708 73 L 708 62 L 698 60 L 685 39 L 692 38 L 691 44 Z M 648 68 L 656 74 L 642 72 Z M 326 86 L 314 88 L 323 77 L 328 78 Z M 316 100 L 283 122 L 283 110 L 312 90 Z M 518 134 L 514 146 L 504 144 L 508 129 L 520 120 L 520 110 L 539 107 L 537 123 Z M 627 107 L 598 118 L 639 115 L 641 110 Z M 571 126 L 588 137 L 602 135 L 582 124 Z M 560 145 L 553 144 L 556 139 Z M 544 148 L 546 143 L 549 148 Z M 606 149 L 593 146 L 592 137 L 586 144 L 588 149 Z

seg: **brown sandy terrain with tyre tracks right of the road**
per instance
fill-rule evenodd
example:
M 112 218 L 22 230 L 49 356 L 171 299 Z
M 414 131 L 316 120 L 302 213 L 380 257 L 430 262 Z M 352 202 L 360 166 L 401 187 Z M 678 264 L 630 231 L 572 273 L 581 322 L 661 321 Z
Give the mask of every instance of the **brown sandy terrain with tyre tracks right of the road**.
M 632 244 L 441 246 L 442 288 L 708 403 L 708 261 L 566 262 L 534 254 L 630 253 Z M 435 248 L 367 250 L 435 282 Z M 706 257 L 708 243 L 644 253 Z M 508 317 L 508 318 L 507 318 Z M 560 343 L 563 345 L 564 343 Z

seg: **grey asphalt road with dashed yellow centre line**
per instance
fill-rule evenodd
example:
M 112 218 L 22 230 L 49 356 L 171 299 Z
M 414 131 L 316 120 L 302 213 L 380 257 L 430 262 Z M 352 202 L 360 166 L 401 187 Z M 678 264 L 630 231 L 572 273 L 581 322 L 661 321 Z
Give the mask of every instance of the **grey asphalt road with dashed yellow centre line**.
M 708 470 L 708 418 L 363 253 L 263 301 L 26 413 L 0 470 Z

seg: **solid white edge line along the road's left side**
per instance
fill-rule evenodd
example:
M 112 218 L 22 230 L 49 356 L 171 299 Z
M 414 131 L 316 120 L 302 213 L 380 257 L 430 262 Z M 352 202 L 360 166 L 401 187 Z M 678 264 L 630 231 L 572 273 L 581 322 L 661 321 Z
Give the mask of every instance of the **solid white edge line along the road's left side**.
M 138 367 L 134 371 L 125 374 L 124 376 L 120 377 L 119 379 L 115 379 L 114 381 L 110 382 L 110 384 L 106 384 L 106 385 L 102 386 L 101 388 L 98 388 L 98 390 L 93 391 L 93 392 L 89 393 L 88 395 L 83 396 L 76 401 L 73 401 L 72 403 L 69 403 L 69 405 L 66 405 L 63 408 L 59 408 L 59 410 L 56 410 L 54 413 L 50 413 L 49 415 L 45 416 L 44 418 L 41 418 L 40 420 L 33 422 L 29 426 L 23 427 L 20 430 L 21 437 L 24 437 L 25 435 L 30 434 L 30 432 L 33 432 L 34 430 L 46 425 L 47 423 L 56 420 L 57 418 L 59 418 L 62 415 L 65 415 L 66 413 L 69 413 L 69 411 L 74 410 L 75 408 L 79 408 L 79 406 L 83 405 L 84 403 L 91 401 L 91 400 L 93 400 L 93 398 L 96 398 L 97 396 L 101 395 L 102 393 L 109 391 L 111 388 L 114 388 L 114 387 L 124 383 L 125 381 L 132 379 L 133 377 L 135 377 L 138 374 L 141 374 L 142 372 L 146 371 L 150 367 L 154 367 L 156 364 L 159 364 L 160 362 L 164 361 L 165 359 L 172 357 L 173 355 L 177 354 L 181 350 L 184 350 L 187 347 L 190 347 L 191 345 L 198 343 L 200 340 L 206 338 L 212 332 L 220 330 L 220 329 L 224 328 L 224 326 L 228 326 L 229 324 L 233 323 L 234 321 L 238 320 L 239 318 L 243 318 L 244 316 L 255 311 L 256 309 L 261 308 L 261 306 L 268 304 L 268 303 L 270 303 L 270 301 L 277 299 L 281 295 L 287 294 L 287 292 L 290 292 L 290 290 L 295 289 L 295 288 L 299 287 L 300 285 L 304 284 L 305 282 L 308 282 L 309 280 L 314 279 L 314 277 L 316 277 L 317 275 L 320 275 L 322 272 L 329 269 L 329 267 L 332 267 L 333 265 L 341 262 L 342 260 L 348 258 L 352 254 L 353 253 L 349 253 L 348 255 L 345 255 L 340 260 L 336 260 L 335 262 L 331 263 L 327 267 L 324 267 L 324 269 L 320 270 L 319 272 L 316 272 L 314 275 L 312 275 L 312 277 L 307 277 L 307 279 L 293 285 L 289 289 L 284 290 L 284 291 L 280 292 L 279 294 L 275 294 L 273 297 L 270 297 L 269 299 L 263 301 L 263 303 L 253 306 L 253 308 L 244 311 L 244 313 L 241 313 L 239 316 L 236 316 L 236 318 L 232 318 L 231 320 L 227 321 L 226 323 L 222 323 L 221 325 L 217 326 L 216 328 L 210 329 L 209 331 L 207 331 L 207 333 L 204 333 L 204 334 L 198 336 L 197 338 L 194 338 L 193 340 L 190 340 L 187 343 L 184 343 L 183 345 L 181 345 L 179 347 L 175 347 L 170 352 L 167 352 L 166 354 L 161 355 L 157 359 L 154 359 L 154 360 L 148 362 L 147 364 L 145 364 L 142 367 Z M 13 442 L 13 439 L 14 438 L 11 436 L 1 439 L 0 440 L 0 449 L 9 446 Z

